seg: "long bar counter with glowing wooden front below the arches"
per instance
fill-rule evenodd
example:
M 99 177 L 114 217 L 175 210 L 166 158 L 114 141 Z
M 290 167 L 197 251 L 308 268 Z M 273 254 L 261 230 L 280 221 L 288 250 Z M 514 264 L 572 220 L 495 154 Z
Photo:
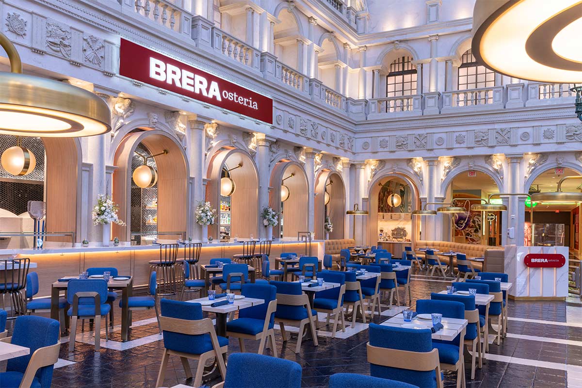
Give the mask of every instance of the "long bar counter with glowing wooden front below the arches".
M 325 252 L 323 240 L 311 241 L 311 255 L 323 259 Z M 183 245 L 182 245 L 183 246 Z M 258 247 L 258 243 L 257 243 Z M 297 255 L 309 254 L 305 241 L 274 241 L 271 245 L 270 257 L 275 258 L 282 252 L 294 252 Z M 242 243 L 212 243 L 203 244 L 200 254 L 200 264 L 208 264 L 211 258 L 232 258 L 242 253 Z M 150 274 L 148 261 L 159 259 L 157 245 L 118 246 L 118 247 L 75 247 L 54 248 L 44 250 L 0 250 L 0 258 L 28 257 L 37 264 L 35 269 L 40 282 L 39 296 L 50 296 L 51 283 L 63 276 L 77 275 L 86 268 L 115 267 L 119 275 L 134 276 L 134 286 L 145 285 Z M 183 248 L 178 251 L 178 259 L 184 257 Z M 272 268 L 275 268 L 271 260 Z

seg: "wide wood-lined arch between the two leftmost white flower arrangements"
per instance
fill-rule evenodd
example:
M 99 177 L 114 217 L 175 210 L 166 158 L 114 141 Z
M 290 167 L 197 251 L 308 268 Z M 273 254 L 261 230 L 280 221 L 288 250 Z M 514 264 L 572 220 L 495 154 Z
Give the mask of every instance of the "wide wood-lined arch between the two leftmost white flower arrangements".
M 157 155 L 147 162 L 158 172 L 153 187 L 137 187 L 133 181 L 133 171 L 143 163 L 141 155 Z M 114 224 L 112 236 L 138 244 L 158 237 L 182 238 L 189 215 L 189 167 L 178 141 L 160 130 L 132 131 L 120 142 L 114 163 L 118 169 L 113 173 L 113 201 L 119 205 L 120 218 L 126 225 Z M 166 234 L 171 232 L 174 234 Z

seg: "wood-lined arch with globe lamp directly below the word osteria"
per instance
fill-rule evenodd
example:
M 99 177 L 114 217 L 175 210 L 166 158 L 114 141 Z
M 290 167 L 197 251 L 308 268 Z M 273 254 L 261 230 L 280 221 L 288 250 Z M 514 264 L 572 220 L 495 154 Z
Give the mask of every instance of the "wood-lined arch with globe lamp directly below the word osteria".
M 221 179 L 232 180 L 232 193 L 221 194 Z M 258 170 L 253 158 L 236 148 L 222 148 L 208 166 L 206 200 L 217 209 L 218 222 L 208 227 L 213 239 L 258 237 Z

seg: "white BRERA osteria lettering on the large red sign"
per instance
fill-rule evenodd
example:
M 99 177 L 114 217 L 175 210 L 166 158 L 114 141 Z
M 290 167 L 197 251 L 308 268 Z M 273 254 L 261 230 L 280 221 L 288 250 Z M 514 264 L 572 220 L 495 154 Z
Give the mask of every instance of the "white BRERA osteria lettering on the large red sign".
M 252 98 L 243 98 L 239 95 L 228 91 L 220 91 L 218 83 L 212 81 L 208 85 L 208 81 L 198 74 L 182 70 L 178 66 L 164 63 L 162 60 L 150 57 L 150 78 L 158 81 L 165 81 L 168 84 L 173 84 L 176 87 L 185 89 L 196 94 L 201 94 L 204 97 L 214 98 L 217 101 L 222 101 L 222 98 L 235 101 L 240 105 L 249 106 L 253 109 L 258 109 L 257 103 Z

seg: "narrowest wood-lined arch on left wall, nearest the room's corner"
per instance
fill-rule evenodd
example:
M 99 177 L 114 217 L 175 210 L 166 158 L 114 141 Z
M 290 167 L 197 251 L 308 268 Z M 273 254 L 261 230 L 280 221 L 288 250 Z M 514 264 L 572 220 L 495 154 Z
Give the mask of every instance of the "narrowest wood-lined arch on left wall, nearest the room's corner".
M 325 195 L 327 193 L 327 195 Z M 328 216 L 333 224 L 330 240 L 343 239 L 346 219 L 346 188 L 342 176 L 323 170 L 315 181 L 315 239 L 325 239 L 324 222 Z

